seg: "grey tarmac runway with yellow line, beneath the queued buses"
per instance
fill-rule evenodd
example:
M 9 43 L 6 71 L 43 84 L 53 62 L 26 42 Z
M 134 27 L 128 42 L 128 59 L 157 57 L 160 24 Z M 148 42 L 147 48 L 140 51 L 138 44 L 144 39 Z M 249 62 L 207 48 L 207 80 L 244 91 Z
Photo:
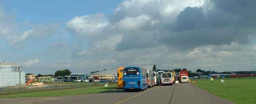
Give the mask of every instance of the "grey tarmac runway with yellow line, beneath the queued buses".
M 46 99 L 47 98 L 47 99 Z M 19 100 L 18 100 L 19 99 Z M 155 86 L 140 92 L 123 89 L 107 92 L 61 96 L 0 99 L 1 104 L 232 104 L 189 83 Z M 4 102 L 8 101 L 8 102 Z

